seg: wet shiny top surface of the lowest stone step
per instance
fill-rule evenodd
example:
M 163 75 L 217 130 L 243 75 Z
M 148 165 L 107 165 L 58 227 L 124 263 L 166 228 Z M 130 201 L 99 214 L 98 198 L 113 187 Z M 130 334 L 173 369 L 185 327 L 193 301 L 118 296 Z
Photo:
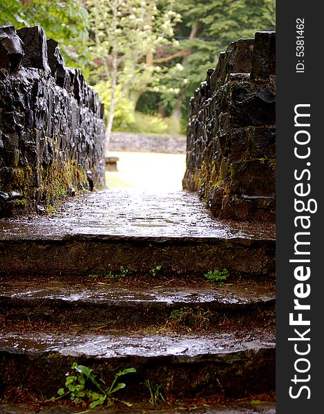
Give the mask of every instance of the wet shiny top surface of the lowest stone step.
M 233 361 L 240 359 L 242 353 L 258 353 L 266 348 L 274 349 L 274 333 L 269 335 L 266 331 L 251 332 L 245 339 L 236 339 L 234 333 L 68 335 L 32 331 L 2 332 L 0 338 L 0 353 L 59 353 L 64 356 L 98 359 L 140 357 L 146 360 L 153 357 L 173 357 L 173 361 L 177 362 L 213 359 Z

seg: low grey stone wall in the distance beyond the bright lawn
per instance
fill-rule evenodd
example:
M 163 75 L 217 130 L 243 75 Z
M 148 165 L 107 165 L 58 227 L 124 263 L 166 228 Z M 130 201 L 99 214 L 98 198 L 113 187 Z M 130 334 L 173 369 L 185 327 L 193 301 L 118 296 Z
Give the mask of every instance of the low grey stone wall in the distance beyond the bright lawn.
M 109 151 L 162 152 L 166 154 L 185 154 L 186 137 L 166 135 L 140 135 L 130 132 L 112 132 Z

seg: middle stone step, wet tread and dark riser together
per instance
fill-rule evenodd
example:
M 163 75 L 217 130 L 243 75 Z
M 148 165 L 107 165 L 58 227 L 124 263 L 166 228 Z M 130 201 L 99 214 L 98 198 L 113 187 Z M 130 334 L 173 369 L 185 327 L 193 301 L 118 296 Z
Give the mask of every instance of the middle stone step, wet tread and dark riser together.
M 28 321 L 70 329 L 247 330 L 249 326 L 274 326 L 274 288 L 274 284 L 251 282 L 204 288 L 82 285 L 63 279 L 3 282 L 0 324 Z

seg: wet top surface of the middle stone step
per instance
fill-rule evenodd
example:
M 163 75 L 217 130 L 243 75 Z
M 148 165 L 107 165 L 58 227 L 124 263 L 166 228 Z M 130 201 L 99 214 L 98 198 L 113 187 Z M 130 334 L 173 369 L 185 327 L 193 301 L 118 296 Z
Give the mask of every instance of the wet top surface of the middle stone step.
M 153 280 L 159 283 L 158 280 Z M 176 280 L 175 280 L 176 282 Z M 103 284 L 77 284 L 69 285 L 63 280 L 48 280 L 45 282 L 3 282 L 0 285 L 0 301 L 12 299 L 12 303 L 35 302 L 40 299 L 62 302 L 84 302 L 86 304 L 142 304 L 149 306 L 162 304 L 169 306 L 178 304 L 208 304 L 218 309 L 242 308 L 250 304 L 274 302 L 274 284 L 263 284 L 262 286 L 246 284 L 225 284 L 215 287 L 200 288 L 176 288 L 176 287 L 116 287 L 110 286 L 109 282 Z M 244 286 L 244 287 L 243 287 Z

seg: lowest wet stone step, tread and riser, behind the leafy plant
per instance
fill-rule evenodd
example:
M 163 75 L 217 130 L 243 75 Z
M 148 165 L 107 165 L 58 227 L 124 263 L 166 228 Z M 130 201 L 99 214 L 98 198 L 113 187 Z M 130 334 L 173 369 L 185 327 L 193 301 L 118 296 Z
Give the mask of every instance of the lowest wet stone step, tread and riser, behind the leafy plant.
M 108 383 L 121 369 L 119 398 L 147 398 L 145 379 L 160 384 L 164 397 L 217 395 L 240 398 L 275 388 L 274 338 L 265 331 L 244 339 L 219 335 L 64 335 L 33 331 L 5 333 L 0 339 L 3 388 L 28 387 L 51 397 L 65 383 L 73 362 L 88 366 Z

